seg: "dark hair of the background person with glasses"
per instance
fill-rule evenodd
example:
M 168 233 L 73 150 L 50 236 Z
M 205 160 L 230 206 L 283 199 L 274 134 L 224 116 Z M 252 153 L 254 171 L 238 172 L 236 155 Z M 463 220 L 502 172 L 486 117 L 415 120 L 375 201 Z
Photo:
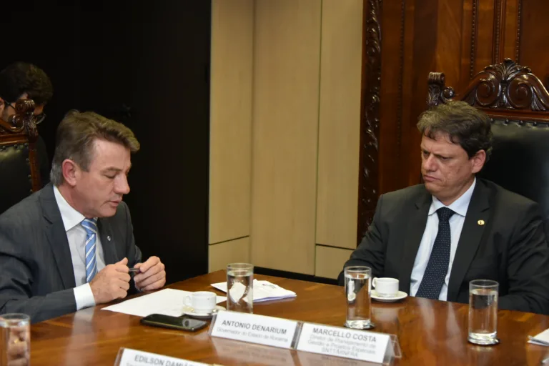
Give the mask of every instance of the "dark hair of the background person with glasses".
M 28 62 L 15 62 L 0 72 L 0 97 L 13 103 L 28 94 L 36 105 L 46 104 L 54 95 L 54 87 L 44 70 Z

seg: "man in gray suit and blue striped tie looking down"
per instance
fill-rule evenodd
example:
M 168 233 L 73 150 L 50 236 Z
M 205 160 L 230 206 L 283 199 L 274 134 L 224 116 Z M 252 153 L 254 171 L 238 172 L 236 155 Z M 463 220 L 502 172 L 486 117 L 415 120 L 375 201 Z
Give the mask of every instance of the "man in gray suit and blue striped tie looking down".
M 133 132 L 93 112 L 57 129 L 51 183 L 0 215 L 0 315 L 40 322 L 164 286 L 158 257 L 141 263 L 129 193 Z M 135 267 L 130 286 L 129 267 Z

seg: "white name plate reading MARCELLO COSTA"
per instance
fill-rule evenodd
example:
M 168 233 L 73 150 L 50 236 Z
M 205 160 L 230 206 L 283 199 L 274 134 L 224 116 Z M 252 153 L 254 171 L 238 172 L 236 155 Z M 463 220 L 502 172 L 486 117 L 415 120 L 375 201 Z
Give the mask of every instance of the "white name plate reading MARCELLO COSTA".
M 382 363 L 389 342 L 390 335 L 304 323 L 297 350 Z

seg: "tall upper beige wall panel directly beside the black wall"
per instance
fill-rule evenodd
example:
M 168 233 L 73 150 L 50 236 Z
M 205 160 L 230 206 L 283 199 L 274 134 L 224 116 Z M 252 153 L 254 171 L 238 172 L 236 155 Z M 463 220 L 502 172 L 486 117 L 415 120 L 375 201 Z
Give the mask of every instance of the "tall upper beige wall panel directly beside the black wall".
M 249 235 L 253 0 L 212 1 L 209 242 Z

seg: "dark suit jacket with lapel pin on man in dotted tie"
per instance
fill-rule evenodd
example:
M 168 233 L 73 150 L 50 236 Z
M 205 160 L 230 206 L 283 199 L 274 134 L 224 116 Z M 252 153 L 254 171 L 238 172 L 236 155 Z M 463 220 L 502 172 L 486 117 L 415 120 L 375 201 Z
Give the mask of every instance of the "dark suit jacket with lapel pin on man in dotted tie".
M 400 290 L 410 293 L 431 202 L 422 184 L 383 194 L 370 229 L 344 267 L 366 265 L 372 276 L 397 278 Z M 501 309 L 549 314 L 549 247 L 538 204 L 479 178 L 455 252 L 447 300 L 467 303 L 471 280 L 498 281 Z M 339 282 L 343 284 L 343 272 Z

